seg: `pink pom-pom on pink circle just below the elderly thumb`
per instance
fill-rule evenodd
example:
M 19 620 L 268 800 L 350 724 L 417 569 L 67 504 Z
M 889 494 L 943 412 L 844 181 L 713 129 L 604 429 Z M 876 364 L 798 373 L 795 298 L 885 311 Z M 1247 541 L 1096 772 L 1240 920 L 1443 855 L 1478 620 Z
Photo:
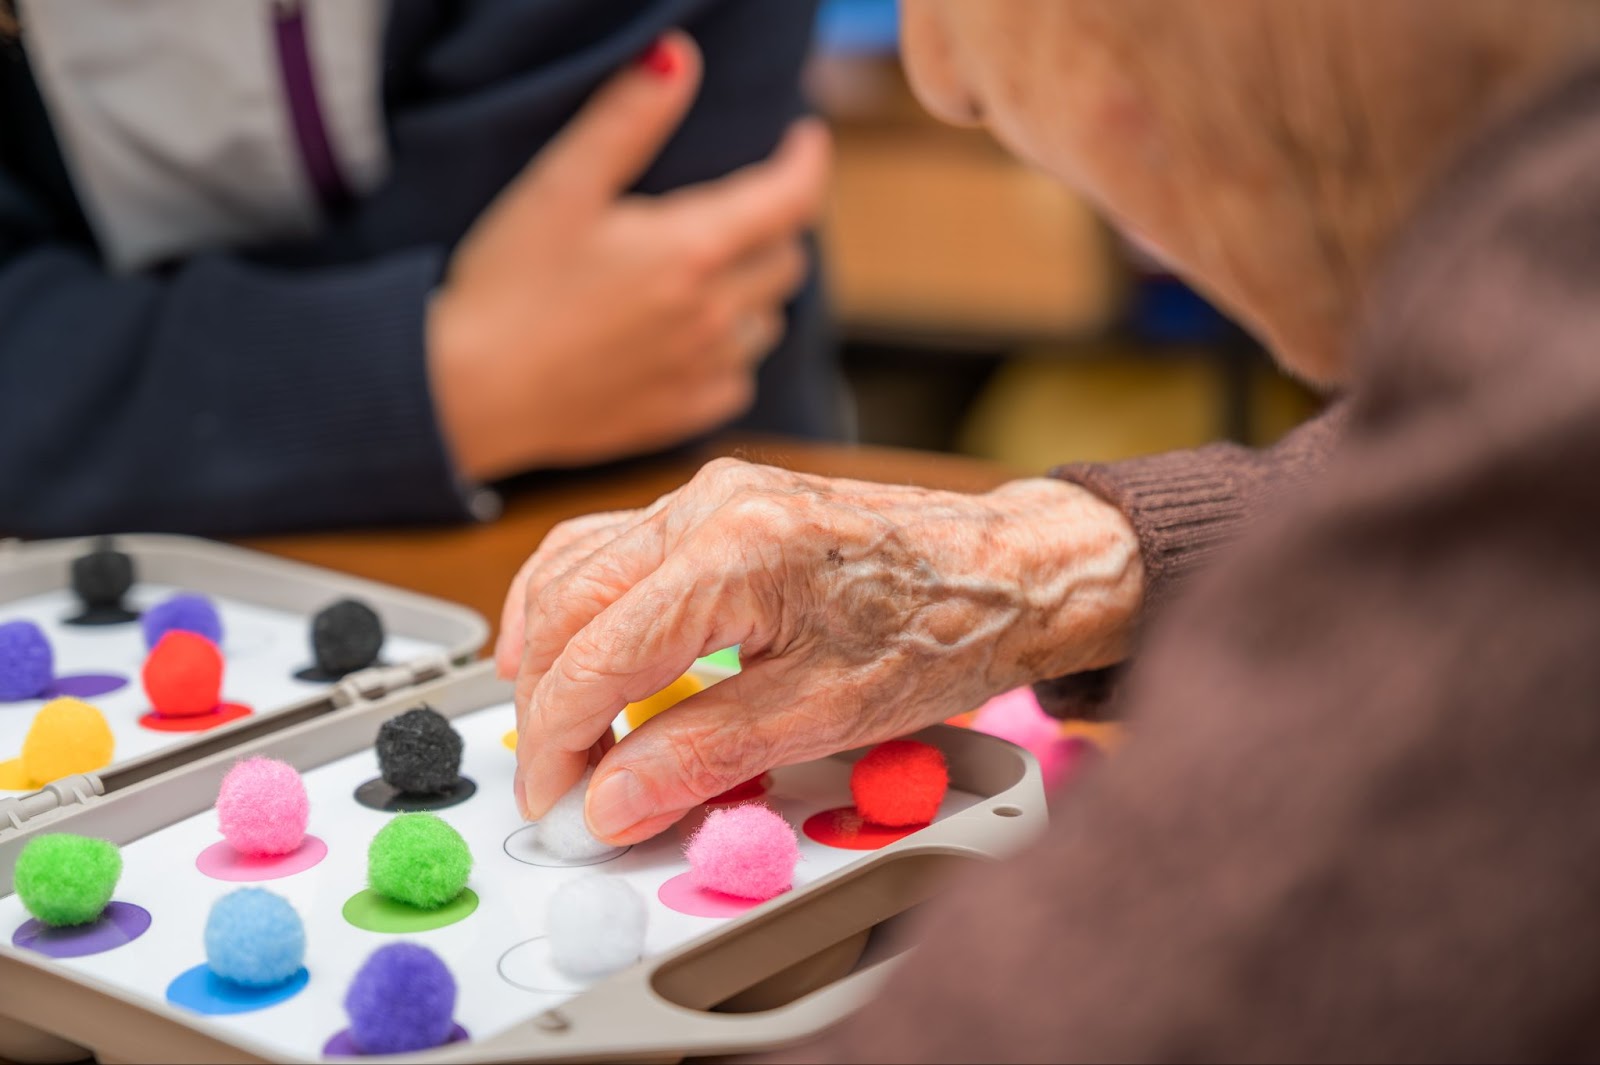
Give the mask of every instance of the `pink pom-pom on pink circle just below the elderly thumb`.
M 683 854 L 698 886 L 765 900 L 794 884 L 800 841 L 787 820 L 749 803 L 710 811 Z

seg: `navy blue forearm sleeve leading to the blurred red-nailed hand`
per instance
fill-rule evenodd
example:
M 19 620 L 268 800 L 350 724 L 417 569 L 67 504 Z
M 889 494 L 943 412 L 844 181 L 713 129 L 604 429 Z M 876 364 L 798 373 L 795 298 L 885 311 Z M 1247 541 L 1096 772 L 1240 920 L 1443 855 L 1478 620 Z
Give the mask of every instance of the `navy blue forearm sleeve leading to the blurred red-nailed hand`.
M 422 350 L 443 253 L 112 278 L 37 217 L 0 173 L 0 532 L 466 517 Z

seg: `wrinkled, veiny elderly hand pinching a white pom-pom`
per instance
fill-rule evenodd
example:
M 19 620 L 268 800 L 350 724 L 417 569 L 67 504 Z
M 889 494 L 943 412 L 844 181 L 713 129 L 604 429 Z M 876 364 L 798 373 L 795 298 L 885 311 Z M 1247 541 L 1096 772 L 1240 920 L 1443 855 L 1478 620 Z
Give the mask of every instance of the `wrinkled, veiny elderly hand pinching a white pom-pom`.
M 706 652 L 744 670 L 600 758 L 589 827 L 661 832 L 773 766 L 901 736 L 1043 676 L 1118 660 L 1142 593 L 1138 542 L 1051 480 L 987 496 L 734 461 L 640 512 L 558 526 L 506 604 L 517 801 L 542 816 L 622 705 Z

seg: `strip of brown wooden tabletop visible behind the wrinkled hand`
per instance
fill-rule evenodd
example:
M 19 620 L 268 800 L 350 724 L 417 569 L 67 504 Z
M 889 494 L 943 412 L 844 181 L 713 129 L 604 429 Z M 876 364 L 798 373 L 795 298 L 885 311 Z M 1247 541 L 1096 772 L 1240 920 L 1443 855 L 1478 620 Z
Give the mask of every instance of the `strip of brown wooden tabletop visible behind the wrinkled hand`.
M 955 491 L 986 491 L 1014 477 L 1002 467 L 955 456 L 746 437 L 718 441 L 693 456 L 510 491 L 506 513 L 486 525 L 317 532 L 253 539 L 245 545 L 462 603 L 498 628 L 506 585 L 552 526 L 597 510 L 646 505 L 690 480 L 706 461 L 730 454 L 808 473 Z

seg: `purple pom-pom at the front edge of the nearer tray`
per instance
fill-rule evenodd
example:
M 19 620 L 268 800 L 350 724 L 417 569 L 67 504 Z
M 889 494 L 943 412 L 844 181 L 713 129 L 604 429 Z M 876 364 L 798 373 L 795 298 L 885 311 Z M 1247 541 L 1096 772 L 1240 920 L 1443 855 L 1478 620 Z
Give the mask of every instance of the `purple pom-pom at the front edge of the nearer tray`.
M 350 1039 L 365 1054 L 443 1046 L 454 1028 L 456 980 L 427 947 L 390 943 L 366 959 L 344 995 Z

